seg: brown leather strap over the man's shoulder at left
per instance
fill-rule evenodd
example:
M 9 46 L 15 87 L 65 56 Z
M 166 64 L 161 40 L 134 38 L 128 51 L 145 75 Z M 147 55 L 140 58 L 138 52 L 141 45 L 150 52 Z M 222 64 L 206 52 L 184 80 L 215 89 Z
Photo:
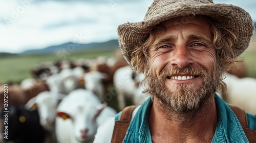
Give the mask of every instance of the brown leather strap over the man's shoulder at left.
M 111 143 L 121 143 L 132 120 L 133 110 L 137 105 L 127 106 L 123 109 L 120 120 L 115 122 Z

